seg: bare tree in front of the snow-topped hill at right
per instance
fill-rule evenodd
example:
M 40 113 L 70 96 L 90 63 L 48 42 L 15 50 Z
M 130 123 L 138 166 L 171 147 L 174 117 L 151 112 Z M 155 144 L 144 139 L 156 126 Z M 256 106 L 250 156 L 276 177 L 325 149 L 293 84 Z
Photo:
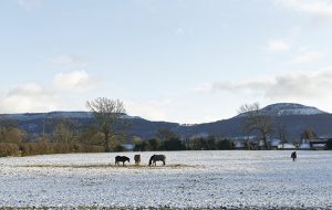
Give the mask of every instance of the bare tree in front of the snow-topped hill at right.
M 266 149 L 269 149 L 268 135 L 272 132 L 272 118 L 260 109 L 258 103 L 245 104 L 239 109 L 243 117 L 243 127 L 247 133 L 258 132 L 264 143 Z

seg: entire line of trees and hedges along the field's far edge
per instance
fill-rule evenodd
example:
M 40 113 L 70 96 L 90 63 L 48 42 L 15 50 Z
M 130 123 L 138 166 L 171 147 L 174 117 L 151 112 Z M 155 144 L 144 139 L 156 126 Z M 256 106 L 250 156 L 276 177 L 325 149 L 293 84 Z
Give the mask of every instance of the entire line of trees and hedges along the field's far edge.
M 32 140 L 24 130 L 18 128 L 13 120 L 0 118 L 0 156 L 29 156 L 60 153 L 102 153 L 124 151 L 123 143 L 128 139 L 125 135 L 126 114 L 123 102 L 98 97 L 89 101 L 86 106 L 94 115 L 94 123 L 89 126 L 80 126 L 77 122 L 68 118 L 59 118 L 51 122 L 53 130 L 51 135 L 43 132 Z M 243 114 L 243 129 L 248 135 L 255 133 L 263 140 L 266 149 L 269 149 L 268 137 L 272 130 L 272 118 L 261 112 L 257 103 L 240 107 Z M 50 122 L 46 122 L 50 123 Z M 284 128 L 279 126 L 280 138 L 284 138 Z M 314 137 L 312 130 L 304 130 L 303 137 Z M 207 136 L 180 138 L 169 129 L 159 129 L 154 138 L 141 139 L 133 137 L 133 150 L 216 150 L 234 149 L 230 139 Z M 328 141 L 328 148 L 332 149 L 332 139 Z

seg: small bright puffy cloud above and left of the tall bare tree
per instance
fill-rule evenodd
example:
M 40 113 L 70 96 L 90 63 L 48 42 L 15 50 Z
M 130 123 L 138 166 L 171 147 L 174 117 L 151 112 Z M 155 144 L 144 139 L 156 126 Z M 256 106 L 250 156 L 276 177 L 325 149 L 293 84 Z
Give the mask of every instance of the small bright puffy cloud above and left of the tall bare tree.
M 54 76 L 53 85 L 60 90 L 85 91 L 91 87 L 93 80 L 85 71 L 59 73 Z

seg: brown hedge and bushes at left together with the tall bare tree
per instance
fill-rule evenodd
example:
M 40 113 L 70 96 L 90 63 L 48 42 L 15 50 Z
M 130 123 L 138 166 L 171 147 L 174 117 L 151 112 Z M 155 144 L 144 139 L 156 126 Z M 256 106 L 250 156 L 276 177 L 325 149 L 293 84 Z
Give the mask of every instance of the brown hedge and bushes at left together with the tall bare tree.
M 122 149 L 125 139 L 117 132 L 121 116 L 125 114 L 124 105 L 118 99 L 98 97 L 86 103 L 94 115 L 89 126 L 80 126 L 77 122 L 59 118 L 44 124 L 52 124 L 51 135 L 44 133 L 28 137 L 18 128 L 14 120 L 0 118 L 0 156 L 29 156 L 65 153 L 102 153 Z

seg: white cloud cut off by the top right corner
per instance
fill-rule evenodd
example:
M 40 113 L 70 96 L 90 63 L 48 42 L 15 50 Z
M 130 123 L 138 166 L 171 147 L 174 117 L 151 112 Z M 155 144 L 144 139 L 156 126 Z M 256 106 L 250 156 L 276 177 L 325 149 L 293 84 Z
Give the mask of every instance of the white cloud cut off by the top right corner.
M 329 0 L 277 0 L 277 2 L 298 12 L 332 17 L 332 2 Z

